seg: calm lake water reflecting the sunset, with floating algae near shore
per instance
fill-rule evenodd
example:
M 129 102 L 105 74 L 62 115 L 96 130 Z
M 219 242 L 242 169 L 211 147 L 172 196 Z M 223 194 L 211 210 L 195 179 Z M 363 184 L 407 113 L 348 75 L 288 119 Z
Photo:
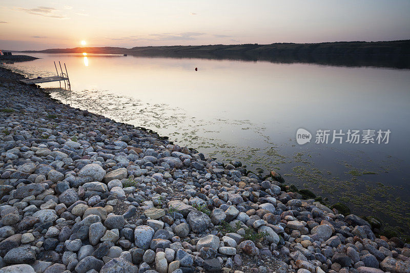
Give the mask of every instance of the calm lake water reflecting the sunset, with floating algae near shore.
M 358 215 L 410 228 L 409 70 L 30 55 L 40 59 L 3 66 L 29 77 L 53 76 L 53 61 L 65 62 L 71 93 L 55 82 L 42 84 L 64 103 L 151 129 L 226 162 L 240 160 L 254 172 L 276 170 L 286 184 L 308 188 L 329 204 L 341 201 Z M 310 142 L 297 143 L 298 129 L 308 132 L 298 140 L 310 133 Z M 342 134 L 331 143 L 333 130 Z M 359 131 L 359 143 L 347 141 L 348 130 Z M 316 141 L 321 132 L 327 143 Z

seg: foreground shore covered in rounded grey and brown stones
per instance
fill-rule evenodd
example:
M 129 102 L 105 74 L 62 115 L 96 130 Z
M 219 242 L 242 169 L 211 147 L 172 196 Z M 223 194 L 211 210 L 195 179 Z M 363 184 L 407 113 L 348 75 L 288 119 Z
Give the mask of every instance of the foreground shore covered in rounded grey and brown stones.
M 0 273 L 410 272 L 410 245 L 0 68 Z

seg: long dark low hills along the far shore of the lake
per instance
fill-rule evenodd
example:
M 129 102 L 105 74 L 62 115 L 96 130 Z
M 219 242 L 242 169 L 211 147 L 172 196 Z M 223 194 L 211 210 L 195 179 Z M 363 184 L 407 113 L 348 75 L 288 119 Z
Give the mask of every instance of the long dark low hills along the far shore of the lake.
M 398 41 L 339 41 L 333 43 L 270 45 L 208 45 L 162 47 L 87 47 L 24 51 L 41 53 L 100 53 L 135 56 L 190 57 L 273 62 L 313 62 L 324 65 L 378 66 L 410 68 L 410 40 Z

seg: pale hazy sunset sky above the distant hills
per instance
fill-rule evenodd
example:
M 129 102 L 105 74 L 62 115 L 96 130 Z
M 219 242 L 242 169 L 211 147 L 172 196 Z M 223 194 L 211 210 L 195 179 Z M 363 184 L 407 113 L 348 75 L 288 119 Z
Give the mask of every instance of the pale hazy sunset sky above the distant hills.
M 409 0 L 0 2 L 0 49 L 410 38 Z

